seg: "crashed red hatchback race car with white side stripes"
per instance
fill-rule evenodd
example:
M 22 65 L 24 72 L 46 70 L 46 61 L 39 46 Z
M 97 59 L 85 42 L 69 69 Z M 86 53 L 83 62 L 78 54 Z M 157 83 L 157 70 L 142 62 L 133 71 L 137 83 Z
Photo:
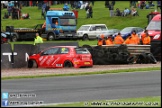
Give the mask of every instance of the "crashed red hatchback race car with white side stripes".
M 48 67 L 92 67 L 93 60 L 91 53 L 86 48 L 76 46 L 54 46 L 41 51 L 38 54 L 29 56 L 28 68 Z

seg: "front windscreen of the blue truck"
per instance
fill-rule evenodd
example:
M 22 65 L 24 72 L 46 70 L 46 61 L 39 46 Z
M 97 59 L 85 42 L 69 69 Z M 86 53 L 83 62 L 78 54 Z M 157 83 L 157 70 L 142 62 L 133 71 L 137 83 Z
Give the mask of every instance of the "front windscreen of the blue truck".
M 60 19 L 60 25 L 76 25 L 76 19 Z

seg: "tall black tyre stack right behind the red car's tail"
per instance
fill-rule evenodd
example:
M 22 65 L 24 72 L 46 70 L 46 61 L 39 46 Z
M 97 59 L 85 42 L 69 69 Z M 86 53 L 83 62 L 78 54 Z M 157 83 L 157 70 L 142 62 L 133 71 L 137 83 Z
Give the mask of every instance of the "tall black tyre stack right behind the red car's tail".
M 94 65 L 108 65 L 108 64 L 127 64 L 130 56 L 126 46 L 119 46 L 114 48 L 83 45 L 87 48 L 93 59 Z

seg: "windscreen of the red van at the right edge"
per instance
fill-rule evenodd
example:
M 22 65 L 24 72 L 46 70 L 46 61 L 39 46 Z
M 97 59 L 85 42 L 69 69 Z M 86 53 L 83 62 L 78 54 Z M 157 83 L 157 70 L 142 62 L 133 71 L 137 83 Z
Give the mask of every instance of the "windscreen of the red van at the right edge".
M 151 21 L 146 30 L 161 30 L 161 21 Z

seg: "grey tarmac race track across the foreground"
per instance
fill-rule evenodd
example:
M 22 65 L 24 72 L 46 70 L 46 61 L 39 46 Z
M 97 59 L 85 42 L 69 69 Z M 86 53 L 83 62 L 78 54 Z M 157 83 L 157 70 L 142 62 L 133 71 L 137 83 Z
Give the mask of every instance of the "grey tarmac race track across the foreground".
M 1 92 L 36 94 L 13 101 L 44 104 L 161 96 L 161 71 L 2 80 Z

